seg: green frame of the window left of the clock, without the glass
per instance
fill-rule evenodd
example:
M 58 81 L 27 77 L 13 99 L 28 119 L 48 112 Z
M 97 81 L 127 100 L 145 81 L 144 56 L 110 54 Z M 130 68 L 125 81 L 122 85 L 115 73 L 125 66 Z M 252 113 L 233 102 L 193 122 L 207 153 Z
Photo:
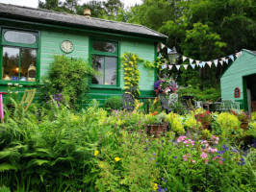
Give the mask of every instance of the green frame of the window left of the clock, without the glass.
M 34 36 L 36 36 L 36 42 L 33 44 L 26 44 L 26 43 L 14 43 L 9 42 L 5 39 L 4 35 L 7 31 L 17 31 L 17 32 L 27 32 L 31 33 Z M 33 84 L 39 84 L 39 70 L 40 70 L 40 31 L 38 30 L 32 30 L 32 29 L 24 29 L 24 28 L 14 28 L 10 26 L 0 26 L 0 84 L 22 84 L 22 85 L 33 85 Z M 12 80 L 3 80 L 2 79 L 2 73 L 3 73 L 3 48 L 4 47 L 13 47 L 19 49 L 19 55 L 21 49 L 35 49 L 37 54 L 37 60 L 36 60 L 36 81 L 35 82 L 23 82 L 23 81 L 12 81 Z M 20 70 L 20 58 L 19 58 L 19 70 Z

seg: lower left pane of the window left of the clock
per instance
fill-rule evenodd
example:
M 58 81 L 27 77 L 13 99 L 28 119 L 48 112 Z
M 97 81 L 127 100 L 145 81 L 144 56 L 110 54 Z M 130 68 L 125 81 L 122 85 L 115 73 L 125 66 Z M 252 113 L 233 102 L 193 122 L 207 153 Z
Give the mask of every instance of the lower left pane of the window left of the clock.
M 18 81 L 18 60 L 18 48 L 3 47 L 3 80 Z

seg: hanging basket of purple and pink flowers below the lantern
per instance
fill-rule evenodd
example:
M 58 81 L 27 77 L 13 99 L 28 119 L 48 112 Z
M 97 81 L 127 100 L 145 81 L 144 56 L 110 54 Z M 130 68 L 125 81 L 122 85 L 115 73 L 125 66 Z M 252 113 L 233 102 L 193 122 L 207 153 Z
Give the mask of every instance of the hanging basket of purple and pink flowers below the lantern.
M 155 83 L 155 91 L 156 94 L 163 93 L 165 95 L 170 95 L 172 93 L 176 93 L 177 84 L 173 79 L 161 79 Z

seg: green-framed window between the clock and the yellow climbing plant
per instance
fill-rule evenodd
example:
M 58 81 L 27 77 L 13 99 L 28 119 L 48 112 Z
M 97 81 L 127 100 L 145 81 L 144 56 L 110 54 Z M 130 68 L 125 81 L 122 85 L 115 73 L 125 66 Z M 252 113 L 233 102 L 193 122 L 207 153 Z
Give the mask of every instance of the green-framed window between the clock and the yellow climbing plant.
M 92 40 L 91 63 L 99 72 L 99 76 L 93 76 L 91 84 L 115 85 L 117 82 L 117 43 Z

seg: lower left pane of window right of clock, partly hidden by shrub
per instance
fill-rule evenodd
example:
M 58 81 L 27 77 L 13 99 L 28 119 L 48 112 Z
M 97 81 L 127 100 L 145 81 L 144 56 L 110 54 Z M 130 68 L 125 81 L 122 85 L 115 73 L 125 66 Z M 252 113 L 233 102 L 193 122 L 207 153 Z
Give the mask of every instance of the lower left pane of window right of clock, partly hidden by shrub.
M 99 76 L 93 76 L 91 84 L 103 84 L 103 71 L 104 71 L 104 57 L 92 56 L 92 67 L 100 72 Z

